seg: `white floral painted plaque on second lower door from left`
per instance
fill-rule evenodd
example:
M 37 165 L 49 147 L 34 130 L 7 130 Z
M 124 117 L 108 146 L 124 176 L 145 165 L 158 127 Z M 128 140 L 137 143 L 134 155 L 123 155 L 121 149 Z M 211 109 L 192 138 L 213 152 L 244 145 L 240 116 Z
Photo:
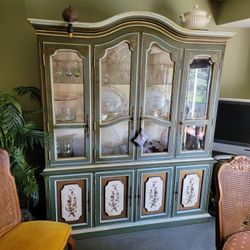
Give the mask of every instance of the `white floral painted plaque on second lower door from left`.
M 105 212 L 108 216 L 121 215 L 124 210 L 124 184 L 121 181 L 109 181 L 105 187 Z

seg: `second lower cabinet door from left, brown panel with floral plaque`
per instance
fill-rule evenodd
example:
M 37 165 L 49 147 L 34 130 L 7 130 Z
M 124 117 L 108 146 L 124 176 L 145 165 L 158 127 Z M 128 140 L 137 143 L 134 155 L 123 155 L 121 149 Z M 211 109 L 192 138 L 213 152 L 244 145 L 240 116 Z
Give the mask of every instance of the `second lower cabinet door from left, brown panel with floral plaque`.
M 96 224 L 132 220 L 133 171 L 96 173 Z

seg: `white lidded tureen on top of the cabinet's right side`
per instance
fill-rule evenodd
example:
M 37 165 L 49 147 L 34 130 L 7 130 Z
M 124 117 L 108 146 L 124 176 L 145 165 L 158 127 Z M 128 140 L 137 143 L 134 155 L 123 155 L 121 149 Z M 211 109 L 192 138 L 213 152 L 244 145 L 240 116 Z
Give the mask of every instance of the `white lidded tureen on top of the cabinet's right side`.
M 188 11 L 180 15 L 180 22 L 184 28 L 204 29 L 209 23 L 211 16 L 204 10 L 198 10 L 198 5 L 193 11 Z

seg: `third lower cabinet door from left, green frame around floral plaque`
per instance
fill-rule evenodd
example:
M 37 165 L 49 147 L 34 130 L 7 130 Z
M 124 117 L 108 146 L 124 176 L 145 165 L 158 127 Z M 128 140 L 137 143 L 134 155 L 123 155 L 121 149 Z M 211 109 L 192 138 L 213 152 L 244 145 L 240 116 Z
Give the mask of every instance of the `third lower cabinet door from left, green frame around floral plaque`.
M 137 220 L 168 217 L 173 168 L 138 170 Z

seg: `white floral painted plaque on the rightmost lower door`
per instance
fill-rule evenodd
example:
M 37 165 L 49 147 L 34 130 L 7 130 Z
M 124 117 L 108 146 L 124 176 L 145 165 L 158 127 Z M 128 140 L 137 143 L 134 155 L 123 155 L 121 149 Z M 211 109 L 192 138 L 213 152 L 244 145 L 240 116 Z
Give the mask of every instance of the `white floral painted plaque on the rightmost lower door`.
M 182 200 L 185 208 L 194 207 L 199 199 L 200 178 L 197 174 L 188 174 L 183 179 Z

